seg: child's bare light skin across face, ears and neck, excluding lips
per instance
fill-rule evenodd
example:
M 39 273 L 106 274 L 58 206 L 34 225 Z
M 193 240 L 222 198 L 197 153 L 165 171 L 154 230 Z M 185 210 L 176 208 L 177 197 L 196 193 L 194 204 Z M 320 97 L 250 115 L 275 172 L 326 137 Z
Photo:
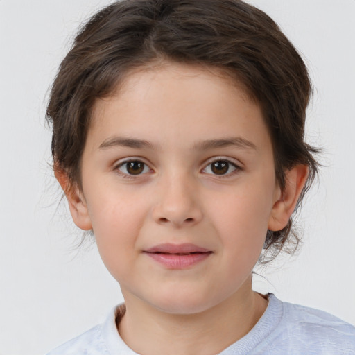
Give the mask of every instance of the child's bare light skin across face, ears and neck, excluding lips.
M 231 139 L 238 144 L 206 144 Z M 144 163 L 140 174 L 129 174 L 128 158 Z M 211 166 L 220 161 L 229 166 L 222 175 Z M 97 100 L 81 168 L 82 189 L 66 191 L 69 207 L 78 227 L 94 230 L 121 286 L 119 333 L 128 346 L 145 355 L 217 354 L 252 329 L 268 303 L 252 291 L 252 269 L 266 231 L 288 222 L 307 168 L 287 171 L 279 189 L 261 109 L 243 89 L 202 67 L 132 72 Z M 67 175 L 56 176 L 65 191 Z M 171 270 L 144 252 L 161 243 L 211 254 Z

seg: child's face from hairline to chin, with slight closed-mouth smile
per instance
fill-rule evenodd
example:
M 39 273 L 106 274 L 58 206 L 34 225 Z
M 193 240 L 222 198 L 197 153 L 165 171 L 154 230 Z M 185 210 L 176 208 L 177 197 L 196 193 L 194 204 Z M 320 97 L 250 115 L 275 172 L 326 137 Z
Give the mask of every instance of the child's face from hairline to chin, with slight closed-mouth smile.
M 281 196 L 259 106 L 179 64 L 131 73 L 97 101 L 82 182 L 74 220 L 94 230 L 126 302 L 172 313 L 250 289 Z

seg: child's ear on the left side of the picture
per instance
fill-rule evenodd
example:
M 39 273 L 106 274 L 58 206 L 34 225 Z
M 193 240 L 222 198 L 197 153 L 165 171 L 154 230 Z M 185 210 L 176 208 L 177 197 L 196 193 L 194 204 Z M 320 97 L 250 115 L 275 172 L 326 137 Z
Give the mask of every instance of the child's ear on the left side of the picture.
M 54 166 L 54 175 L 67 197 L 73 222 L 82 230 L 92 230 L 92 223 L 89 218 L 85 198 L 77 184 L 71 186 L 67 172 L 56 165 Z

